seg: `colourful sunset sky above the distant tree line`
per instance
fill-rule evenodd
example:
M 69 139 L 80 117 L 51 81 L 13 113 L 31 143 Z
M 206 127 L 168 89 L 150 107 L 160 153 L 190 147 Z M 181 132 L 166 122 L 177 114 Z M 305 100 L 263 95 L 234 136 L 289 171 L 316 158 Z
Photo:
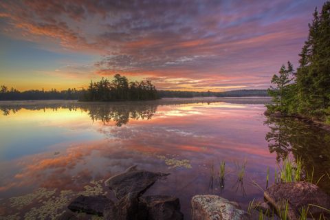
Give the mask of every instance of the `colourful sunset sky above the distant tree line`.
M 0 85 L 87 87 L 152 80 L 157 89 L 265 89 L 298 65 L 319 0 L 0 1 Z

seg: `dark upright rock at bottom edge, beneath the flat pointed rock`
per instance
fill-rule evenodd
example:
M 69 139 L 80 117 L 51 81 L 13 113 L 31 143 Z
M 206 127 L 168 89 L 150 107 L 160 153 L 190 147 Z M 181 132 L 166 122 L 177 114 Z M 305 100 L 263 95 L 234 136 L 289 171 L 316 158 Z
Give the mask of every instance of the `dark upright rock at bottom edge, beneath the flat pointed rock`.
M 104 209 L 104 220 L 146 220 L 148 217 L 146 203 L 140 202 L 137 195 L 136 192 L 129 193 L 115 203 L 115 206 Z

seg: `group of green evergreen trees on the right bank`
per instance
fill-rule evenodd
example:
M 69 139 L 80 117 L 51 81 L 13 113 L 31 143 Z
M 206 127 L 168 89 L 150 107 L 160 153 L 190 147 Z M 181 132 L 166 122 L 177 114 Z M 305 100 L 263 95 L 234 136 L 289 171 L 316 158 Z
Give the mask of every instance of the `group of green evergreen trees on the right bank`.
M 303 115 L 330 124 L 330 1 L 317 8 L 299 54 L 299 67 L 283 65 L 272 78 L 270 112 Z

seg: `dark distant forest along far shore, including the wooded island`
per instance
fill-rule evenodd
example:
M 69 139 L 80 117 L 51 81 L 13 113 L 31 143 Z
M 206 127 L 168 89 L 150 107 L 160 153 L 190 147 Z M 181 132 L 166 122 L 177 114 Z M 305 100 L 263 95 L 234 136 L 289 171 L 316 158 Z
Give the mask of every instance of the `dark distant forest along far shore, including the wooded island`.
M 80 100 L 80 101 L 122 101 L 155 100 L 157 98 L 194 98 L 194 97 L 252 97 L 268 96 L 265 89 L 241 89 L 233 91 L 170 91 L 159 90 L 148 80 L 129 82 L 125 76 L 115 75 L 110 82 L 107 78 L 92 82 L 87 89 L 67 89 L 58 91 L 28 90 L 0 87 L 0 100 Z

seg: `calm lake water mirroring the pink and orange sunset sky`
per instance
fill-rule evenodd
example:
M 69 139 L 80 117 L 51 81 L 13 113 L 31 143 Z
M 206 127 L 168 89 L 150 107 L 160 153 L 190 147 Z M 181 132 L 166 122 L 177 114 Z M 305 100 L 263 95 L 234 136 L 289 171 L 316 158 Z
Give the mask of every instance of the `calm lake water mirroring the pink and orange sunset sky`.
M 297 120 L 265 118 L 265 102 L 0 102 L 0 216 L 55 217 L 78 194 L 107 193 L 102 182 L 133 164 L 170 173 L 146 195 L 179 197 L 185 219 L 197 194 L 221 195 L 243 208 L 262 200 L 255 185 L 266 187 L 267 167 L 272 184 L 287 155 L 302 157 L 307 169 L 314 166 L 316 179 L 330 170 L 330 133 Z M 320 186 L 329 192 L 326 178 Z

